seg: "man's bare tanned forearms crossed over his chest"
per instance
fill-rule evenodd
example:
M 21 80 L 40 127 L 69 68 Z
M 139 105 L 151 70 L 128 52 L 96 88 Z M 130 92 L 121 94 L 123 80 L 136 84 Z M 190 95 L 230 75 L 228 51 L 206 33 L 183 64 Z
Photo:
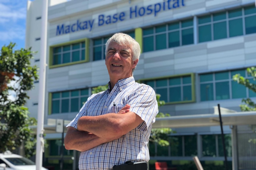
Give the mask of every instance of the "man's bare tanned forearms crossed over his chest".
M 68 127 L 64 140 L 65 148 L 86 151 L 127 134 L 143 122 L 140 116 L 129 109 L 130 105 L 127 104 L 118 114 L 80 117 L 77 129 Z

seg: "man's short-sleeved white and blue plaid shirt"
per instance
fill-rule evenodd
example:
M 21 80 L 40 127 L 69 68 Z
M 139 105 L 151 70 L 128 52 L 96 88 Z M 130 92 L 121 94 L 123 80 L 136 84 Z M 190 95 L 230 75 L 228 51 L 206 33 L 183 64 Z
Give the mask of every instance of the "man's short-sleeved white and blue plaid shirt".
M 116 106 L 113 106 L 113 103 Z M 106 170 L 126 161 L 149 160 L 147 144 L 152 123 L 158 113 L 158 105 L 154 90 L 148 85 L 136 83 L 133 77 L 118 80 L 111 91 L 109 83 L 108 90 L 91 95 L 67 127 L 77 128 L 77 121 L 81 116 L 116 113 L 126 104 L 129 104 L 130 111 L 139 115 L 144 122 L 118 140 L 81 152 L 80 170 Z

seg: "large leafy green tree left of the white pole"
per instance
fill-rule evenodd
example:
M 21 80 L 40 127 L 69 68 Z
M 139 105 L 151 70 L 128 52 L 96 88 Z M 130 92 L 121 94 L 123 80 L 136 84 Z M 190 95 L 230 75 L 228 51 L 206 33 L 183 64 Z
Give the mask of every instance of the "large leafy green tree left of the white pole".
M 36 119 L 29 117 L 24 105 L 38 72 L 30 65 L 34 54 L 31 48 L 14 47 L 15 43 L 10 43 L 0 52 L 0 152 L 14 151 L 24 144 L 25 156 L 30 157 L 35 154 L 36 135 L 29 126 L 36 125 Z

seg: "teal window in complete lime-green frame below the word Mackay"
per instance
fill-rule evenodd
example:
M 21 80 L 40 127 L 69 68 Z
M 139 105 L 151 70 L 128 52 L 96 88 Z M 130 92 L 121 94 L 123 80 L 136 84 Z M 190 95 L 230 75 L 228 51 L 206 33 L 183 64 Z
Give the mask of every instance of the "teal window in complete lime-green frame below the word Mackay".
M 85 60 L 85 42 L 78 42 L 53 48 L 53 64 L 65 64 Z

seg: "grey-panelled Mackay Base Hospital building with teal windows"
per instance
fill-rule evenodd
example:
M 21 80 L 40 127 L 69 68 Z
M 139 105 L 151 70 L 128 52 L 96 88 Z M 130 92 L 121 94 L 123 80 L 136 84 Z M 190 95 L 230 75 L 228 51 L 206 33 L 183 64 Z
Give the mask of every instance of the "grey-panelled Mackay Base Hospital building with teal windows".
M 41 4 L 41 0 L 28 1 L 26 48 L 33 51 L 40 49 Z M 254 0 L 50 1 L 47 30 L 45 124 L 47 119 L 71 121 L 92 88 L 108 83 L 105 43 L 118 32 L 140 43 L 134 78 L 161 95 L 166 102 L 159 108 L 163 113 L 211 114 L 218 103 L 240 111 L 243 98 L 256 99 L 255 93 L 232 80 L 240 74 L 255 83 L 246 72 L 247 67 L 256 65 Z M 32 63 L 39 62 L 37 53 Z M 33 117 L 37 117 L 38 90 L 35 82 L 35 89 L 28 94 L 27 107 Z M 167 161 L 170 167 L 195 168 L 195 155 L 204 167 L 224 167 L 219 126 L 173 131 L 170 146 L 150 145 L 150 167 L 154 168 L 155 161 Z M 238 127 L 239 132 L 246 132 L 248 139 L 255 137 L 249 126 Z M 224 133 L 231 168 L 229 126 L 224 126 Z M 244 142 L 247 138 L 241 137 Z M 57 169 L 61 134 L 47 134 L 46 139 L 49 147 L 44 164 L 55 164 Z M 239 154 L 255 158 L 256 152 L 245 151 L 255 150 L 255 145 L 247 142 L 246 146 Z M 75 169 L 72 156 L 77 154 L 65 150 L 64 165 Z M 241 159 L 238 169 L 256 169 L 254 160 Z

